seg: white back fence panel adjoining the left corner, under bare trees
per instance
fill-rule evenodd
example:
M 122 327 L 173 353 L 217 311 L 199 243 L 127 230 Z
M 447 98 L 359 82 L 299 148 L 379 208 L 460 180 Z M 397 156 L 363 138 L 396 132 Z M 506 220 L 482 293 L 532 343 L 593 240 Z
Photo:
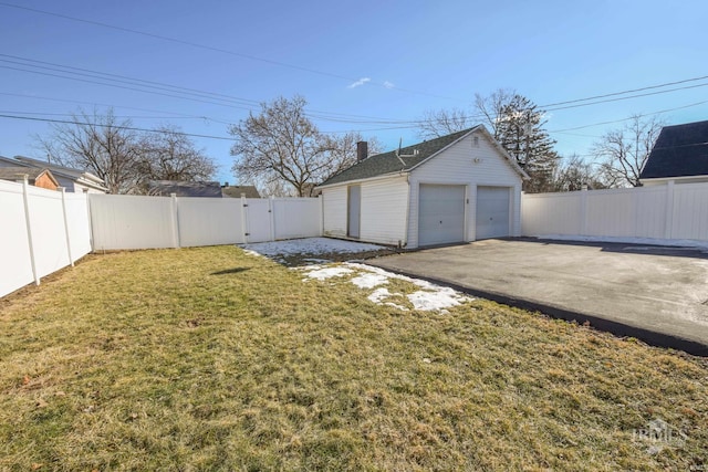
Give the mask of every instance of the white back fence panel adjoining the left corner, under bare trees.
M 176 248 L 169 197 L 90 193 L 93 250 Z

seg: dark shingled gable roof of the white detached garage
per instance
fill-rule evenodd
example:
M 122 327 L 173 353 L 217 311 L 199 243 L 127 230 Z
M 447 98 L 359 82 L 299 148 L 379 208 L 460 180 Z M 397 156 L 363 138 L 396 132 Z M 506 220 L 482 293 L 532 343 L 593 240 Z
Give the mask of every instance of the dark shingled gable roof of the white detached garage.
M 454 145 L 458 140 L 475 132 L 485 134 L 497 147 L 503 157 L 509 160 L 511 167 L 517 170 L 523 178 L 528 178 L 527 174 L 519 167 L 517 160 L 512 158 L 499 143 L 489 134 L 482 125 L 477 125 L 469 129 L 452 133 L 447 136 L 426 140 L 412 146 L 406 146 L 400 150 L 392 150 L 384 154 L 371 156 L 354 166 L 342 170 L 340 174 L 329 178 L 319 187 L 327 187 L 335 183 L 348 182 L 353 180 L 366 180 L 373 177 L 381 177 L 388 174 L 409 172 L 416 167 L 431 159 L 440 151 Z

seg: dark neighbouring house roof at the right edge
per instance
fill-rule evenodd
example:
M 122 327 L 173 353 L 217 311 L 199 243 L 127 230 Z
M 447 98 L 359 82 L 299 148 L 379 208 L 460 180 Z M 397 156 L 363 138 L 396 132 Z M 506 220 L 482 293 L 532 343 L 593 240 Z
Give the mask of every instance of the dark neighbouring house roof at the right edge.
M 639 179 L 708 176 L 708 122 L 664 126 Z

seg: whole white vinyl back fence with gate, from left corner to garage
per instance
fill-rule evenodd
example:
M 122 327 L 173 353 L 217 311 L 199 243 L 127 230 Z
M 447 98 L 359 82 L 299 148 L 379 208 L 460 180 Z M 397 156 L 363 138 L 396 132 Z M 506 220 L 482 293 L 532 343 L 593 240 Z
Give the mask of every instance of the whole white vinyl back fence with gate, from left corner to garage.
M 322 235 L 317 198 L 88 196 L 94 251 L 240 244 Z

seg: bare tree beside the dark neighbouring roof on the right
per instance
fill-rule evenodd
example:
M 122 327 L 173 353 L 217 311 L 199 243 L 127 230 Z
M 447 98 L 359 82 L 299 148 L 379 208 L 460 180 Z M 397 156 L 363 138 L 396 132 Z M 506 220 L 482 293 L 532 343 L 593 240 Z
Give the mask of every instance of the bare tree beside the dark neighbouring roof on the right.
M 656 117 L 633 115 L 629 123 L 607 132 L 593 145 L 610 187 L 641 187 L 639 174 L 656 143 L 664 123 Z

